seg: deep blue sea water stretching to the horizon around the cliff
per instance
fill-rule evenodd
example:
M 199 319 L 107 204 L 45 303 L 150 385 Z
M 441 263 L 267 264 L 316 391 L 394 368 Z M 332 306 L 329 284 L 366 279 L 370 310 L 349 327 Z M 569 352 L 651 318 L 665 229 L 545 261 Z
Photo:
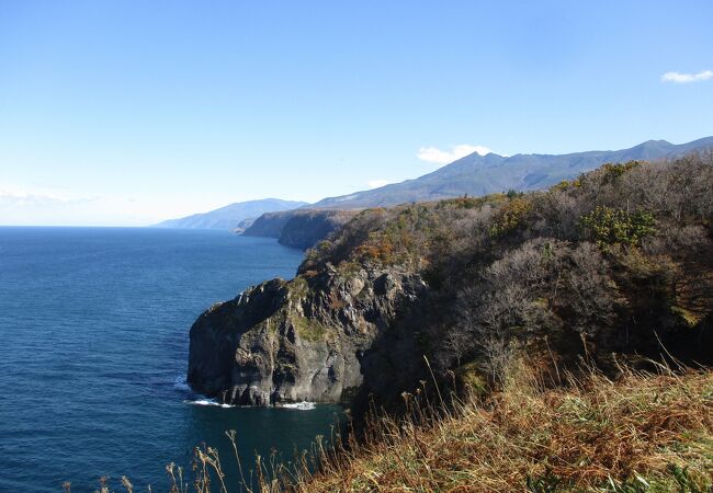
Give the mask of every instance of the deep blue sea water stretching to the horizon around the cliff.
M 248 459 L 328 435 L 337 408 L 197 405 L 183 385 L 195 318 L 301 259 L 224 231 L 0 228 L 0 492 L 162 492 L 201 443 L 233 465 L 226 429 Z

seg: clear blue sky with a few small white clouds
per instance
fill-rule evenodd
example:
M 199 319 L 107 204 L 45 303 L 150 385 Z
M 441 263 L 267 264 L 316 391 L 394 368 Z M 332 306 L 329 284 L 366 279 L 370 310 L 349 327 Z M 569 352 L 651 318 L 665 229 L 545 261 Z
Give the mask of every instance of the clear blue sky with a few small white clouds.
M 713 135 L 711 19 L 710 0 L 0 0 L 0 223 L 140 226 L 478 146 Z

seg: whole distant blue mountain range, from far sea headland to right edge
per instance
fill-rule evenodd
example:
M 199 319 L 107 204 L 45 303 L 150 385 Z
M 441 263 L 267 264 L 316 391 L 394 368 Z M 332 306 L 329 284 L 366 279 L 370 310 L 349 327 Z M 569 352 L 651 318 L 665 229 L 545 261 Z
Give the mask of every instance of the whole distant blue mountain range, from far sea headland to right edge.
M 328 210 L 389 207 L 409 202 L 439 200 L 463 195 L 479 196 L 508 190 L 527 192 L 545 188 L 562 180 L 570 180 L 607 162 L 678 158 L 704 149 L 713 149 L 713 137 L 680 145 L 666 140 L 648 140 L 630 149 L 569 154 L 499 156 L 491 152 L 480 156 L 474 152 L 415 180 L 406 180 L 349 195 L 328 197 L 315 204 L 278 198 L 240 202 L 205 214 L 170 219 L 156 226 L 233 229 L 236 232 L 245 232 L 247 236 L 283 238 L 283 228 L 291 225 L 290 238 L 302 238 L 295 231 L 306 228 L 308 223 L 313 226 L 319 223 L 319 228 L 326 228 L 325 231 L 327 231 L 329 228 L 338 227 L 349 217 L 348 215 L 333 216 Z M 320 217 L 320 210 L 324 211 L 321 213 L 324 217 Z M 295 221 L 291 222 L 293 217 L 295 217 Z M 257 218 L 260 220 L 253 226 Z M 305 233 L 305 238 L 308 238 L 309 241 L 301 240 L 297 243 L 306 244 L 312 241 L 313 237 L 314 234 Z M 284 241 L 292 244 L 292 241 Z

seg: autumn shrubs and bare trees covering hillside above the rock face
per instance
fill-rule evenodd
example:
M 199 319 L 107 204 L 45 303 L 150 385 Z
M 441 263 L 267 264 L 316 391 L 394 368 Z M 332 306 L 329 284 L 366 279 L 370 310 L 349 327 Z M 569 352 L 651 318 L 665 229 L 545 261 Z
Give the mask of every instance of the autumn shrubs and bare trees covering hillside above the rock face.
M 301 272 L 419 272 L 428 309 L 408 323 L 442 375 L 468 362 L 493 372 L 513 347 L 604 365 L 612 352 L 658 357 L 659 339 L 713 360 L 694 351 L 713 312 L 712 187 L 704 153 L 608 164 L 544 192 L 364 210 Z

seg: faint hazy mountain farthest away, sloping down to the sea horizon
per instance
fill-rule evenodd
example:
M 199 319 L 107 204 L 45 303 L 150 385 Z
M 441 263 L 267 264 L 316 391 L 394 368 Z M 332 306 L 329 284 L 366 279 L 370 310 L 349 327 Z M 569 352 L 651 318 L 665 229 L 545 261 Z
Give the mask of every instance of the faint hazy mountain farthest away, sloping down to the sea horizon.
M 237 202 L 219 209 L 169 219 L 155 226 L 158 228 L 237 229 L 240 232 L 265 213 L 296 209 L 305 205 L 307 205 L 306 202 L 281 200 L 279 198 Z

